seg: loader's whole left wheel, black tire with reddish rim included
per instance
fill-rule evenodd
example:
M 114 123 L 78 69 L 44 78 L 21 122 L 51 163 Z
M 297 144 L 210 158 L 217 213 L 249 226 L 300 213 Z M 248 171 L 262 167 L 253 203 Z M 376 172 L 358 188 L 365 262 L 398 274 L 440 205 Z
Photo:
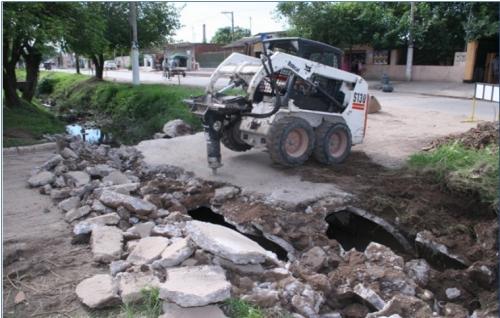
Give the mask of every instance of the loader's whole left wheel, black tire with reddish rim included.
M 271 159 L 284 166 L 303 164 L 314 148 L 314 131 L 300 117 L 279 119 L 271 126 L 268 136 L 267 150 Z

